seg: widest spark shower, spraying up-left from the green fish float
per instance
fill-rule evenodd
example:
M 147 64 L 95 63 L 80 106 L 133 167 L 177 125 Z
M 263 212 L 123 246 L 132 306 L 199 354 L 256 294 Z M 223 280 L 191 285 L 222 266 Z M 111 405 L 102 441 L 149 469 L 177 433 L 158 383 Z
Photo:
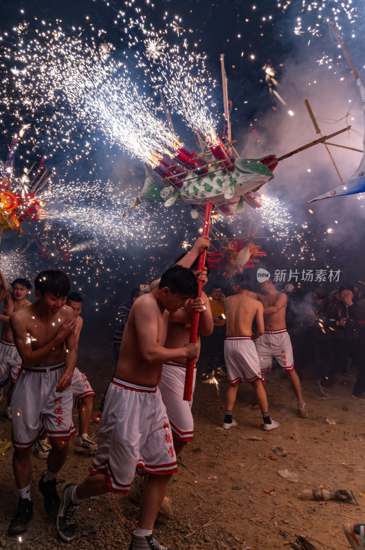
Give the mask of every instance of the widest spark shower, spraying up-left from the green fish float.
M 15 50 L 4 49 L 13 63 L 5 87 L 16 89 L 8 95 L 8 107 L 32 120 L 34 146 L 49 151 L 49 157 L 59 148 L 74 150 L 69 162 L 76 162 L 89 155 L 101 131 L 104 142 L 149 164 L 162 153 L 173 155 L 175 135 L 124 63 L 110 55 L 109 45 L 97 47 L 92 37 L 75 38 L 59 26 L 36 34 L 30 41 L 20 35 Z

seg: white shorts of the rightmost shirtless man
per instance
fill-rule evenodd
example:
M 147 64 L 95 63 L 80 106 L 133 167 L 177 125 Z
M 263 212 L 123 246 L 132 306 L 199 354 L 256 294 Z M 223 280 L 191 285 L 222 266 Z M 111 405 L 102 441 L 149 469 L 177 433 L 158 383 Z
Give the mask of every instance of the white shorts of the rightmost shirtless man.
M 265 331 L 256 340 L 256 350 L 260 360 L 261 372 L 272 370 L 272 359 L 275 358 L 283 371 L 294 371 L 293 349 L 287 329 Z

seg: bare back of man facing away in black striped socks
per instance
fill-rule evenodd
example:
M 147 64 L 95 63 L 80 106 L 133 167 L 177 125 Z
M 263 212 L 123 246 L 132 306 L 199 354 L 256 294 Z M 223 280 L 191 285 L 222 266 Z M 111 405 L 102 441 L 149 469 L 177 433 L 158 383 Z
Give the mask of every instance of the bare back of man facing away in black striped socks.
M 263 333 L 263 306 L 250 298 L 247 290 L 225 298 L 226 336 L 252 336 L 252 322 L 256 318 L 258 331 Z

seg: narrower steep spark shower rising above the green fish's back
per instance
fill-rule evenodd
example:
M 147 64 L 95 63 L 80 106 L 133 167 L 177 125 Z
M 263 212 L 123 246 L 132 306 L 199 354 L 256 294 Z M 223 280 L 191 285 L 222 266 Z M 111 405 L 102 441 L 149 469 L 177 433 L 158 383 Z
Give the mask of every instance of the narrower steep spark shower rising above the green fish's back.
M 184 30 L 179 24 L 181 19 L 177 17 L 169 21 L 167 12 L 163 18 L 165 26 L 159 30 L 153 27 L 140 8 L 135 9 L 133 17 L 127 17 L 122 11 L 117 17 L 126 25 L 128 56 L 133 53 L 143 78 L 148 77 L 153 86 L 163 85 L 170 108 L 192 131 L 209 141 L 215 140 L 218 115 L 214 87 L 217 81 L 206 67 L 206 54 L 197 50 L 197 43 L 189 43 L 186 39 L 185 35 L 192 34 L 192 30 Z M 144 45 L 142 52 L 141 44 Z M 166 45 L 163 52 L 153 55 L 160 44 Z

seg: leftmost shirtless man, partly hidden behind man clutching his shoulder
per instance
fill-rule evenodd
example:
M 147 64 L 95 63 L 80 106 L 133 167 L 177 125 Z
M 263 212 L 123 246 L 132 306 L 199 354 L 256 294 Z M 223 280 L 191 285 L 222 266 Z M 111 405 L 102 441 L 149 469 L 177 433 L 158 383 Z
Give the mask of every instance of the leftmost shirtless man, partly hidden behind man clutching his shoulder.
M 3 315 L 0 315 L 0 320 L 3 322 L 0 339 L 0 388 L 10 379 L 10 387 L 8 389 L 7 402 L 4 410 L 4 417 L 7 420 L 12 420 L 11 399 L 12 391 L 16 381 L 16 375 L 21 367 L 21 357 L 15 347 L 12 329 L 10 329 L 9 319 L 14 311 L 18 311 L 22 307 L 30 305 L 27 300 L 27 295 L 30 293 L 32 285 L 30 282 L 21 277 L 12 282 L 12 290 L 10 291 L 8 282 L 5 279 L 3 272 L 0 270 L 0 301 L 4 300 Z

